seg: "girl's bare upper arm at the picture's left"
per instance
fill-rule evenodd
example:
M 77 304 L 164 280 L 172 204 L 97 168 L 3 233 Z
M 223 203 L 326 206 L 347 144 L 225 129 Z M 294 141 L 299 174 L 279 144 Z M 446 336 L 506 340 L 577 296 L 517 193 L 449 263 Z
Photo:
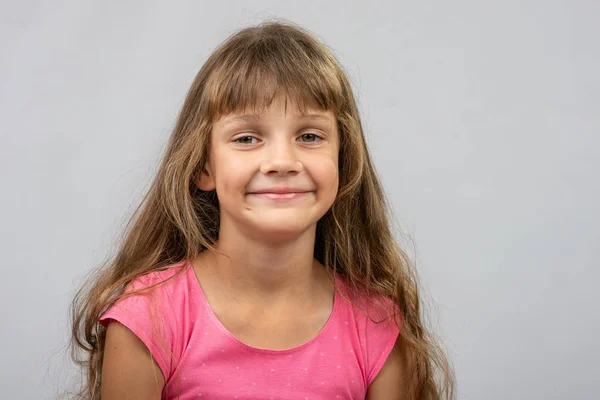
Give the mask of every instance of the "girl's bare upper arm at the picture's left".
M 102 400 L 159 400 L 164 383 L 144 343 L 124 325 L 111 321 L 102 362 Z

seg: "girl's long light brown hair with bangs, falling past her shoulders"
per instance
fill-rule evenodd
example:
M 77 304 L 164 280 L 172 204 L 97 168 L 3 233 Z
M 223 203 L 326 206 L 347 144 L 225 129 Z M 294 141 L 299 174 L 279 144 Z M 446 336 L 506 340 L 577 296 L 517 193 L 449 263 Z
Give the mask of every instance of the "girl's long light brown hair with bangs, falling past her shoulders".
M 346 73 L 313 34 L 276 21 L 236 32 L 207 59 L 116 256 L 77 292 L 71 308 L 72 357 L 85 371 L 79 398 L 100 398 L 106 328 L 98 319 L 124 288 L 143 274 L 214 248 L 218 200 L 214 191 L 195 184 L 207 162 L 212 124 L 230 112 L 264 110 L 278 94 L 301 112 L 316 108 L 337 118 L 340 186 L 317 223 L 315 258 L 352 287 L 394 300 L 390 311 L 399 316 L 410 398 L 454 397 L 449 362 L 423 322 L 415 268 L 393 236 Z

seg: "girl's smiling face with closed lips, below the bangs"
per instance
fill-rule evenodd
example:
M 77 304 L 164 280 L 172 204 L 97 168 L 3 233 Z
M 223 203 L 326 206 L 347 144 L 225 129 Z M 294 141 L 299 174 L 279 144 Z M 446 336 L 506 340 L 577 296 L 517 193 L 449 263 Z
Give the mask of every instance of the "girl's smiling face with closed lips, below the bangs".
M 300 115 L 282 96 L 264 114 L 215 121 L 200 189 L 216 189 L 223 228 L 266 240 L 315 227 L 338 190 L 333 112 Z

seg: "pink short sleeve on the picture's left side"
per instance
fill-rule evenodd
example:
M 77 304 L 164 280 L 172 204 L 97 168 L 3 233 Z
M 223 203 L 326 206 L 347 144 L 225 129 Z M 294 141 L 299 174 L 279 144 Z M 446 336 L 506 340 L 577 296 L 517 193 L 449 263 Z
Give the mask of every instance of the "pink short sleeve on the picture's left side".
M 159 279 L 156 275 L 145 275 L 128 285 L 125 293 L 137 291 L 158 282 Z M 146 345 L 160 367 L 165 381 L 168 380 L 173 371 L 173 350 L 177 326 L 168 284 L 120 299 L 102 314 L 99 322 L 106 327 L 111 320 L 126 326 Z

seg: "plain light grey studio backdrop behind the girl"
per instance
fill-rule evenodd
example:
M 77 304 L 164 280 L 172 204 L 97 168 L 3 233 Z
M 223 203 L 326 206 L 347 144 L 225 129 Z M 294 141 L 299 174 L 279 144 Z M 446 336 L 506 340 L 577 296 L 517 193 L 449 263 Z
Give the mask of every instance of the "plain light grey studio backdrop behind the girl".
M 71 297 L 196 72 L 283 18 L 347 68 L 458 398 L 598 398 L 600 3 L 246 3 L 1 3 L 0 397 L 69 386 Z

